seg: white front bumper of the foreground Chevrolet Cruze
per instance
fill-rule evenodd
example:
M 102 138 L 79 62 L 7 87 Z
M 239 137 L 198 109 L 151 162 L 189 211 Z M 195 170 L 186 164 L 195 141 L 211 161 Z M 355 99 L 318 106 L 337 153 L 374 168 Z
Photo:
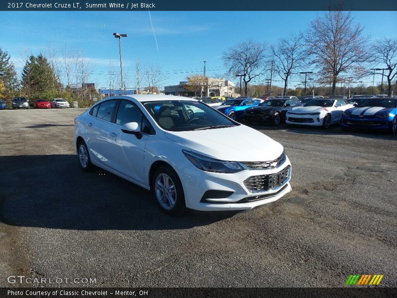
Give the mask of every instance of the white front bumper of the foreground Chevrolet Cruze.
M 252 176 L 264 176 L 281 173 L 289 167 L 288 175 L 281 184 L 268 190 L 250 191 L 244 182 Z M 185 192 L 186 207 L 199 211 L 249 210 L 280 199 L 291 191 L 291 164 L 288 157 L 275 169 L 243 170 L 234 174 L 202 171 L 192 165 L 180 170 Z M 204 196 L 208 192 L 225 194 L 223 198 Z

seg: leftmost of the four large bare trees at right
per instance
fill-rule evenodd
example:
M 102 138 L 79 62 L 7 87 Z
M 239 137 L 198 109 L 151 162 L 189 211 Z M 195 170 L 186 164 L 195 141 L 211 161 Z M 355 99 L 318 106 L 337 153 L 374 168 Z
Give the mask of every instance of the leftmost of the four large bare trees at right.
M 247 40 L 229 48 L 223 53 L 222 59 L 227 73 L 242 75 L 244 94 L 247 95 L 248 83 L 265 72 L 266 47 L 264 43 Z

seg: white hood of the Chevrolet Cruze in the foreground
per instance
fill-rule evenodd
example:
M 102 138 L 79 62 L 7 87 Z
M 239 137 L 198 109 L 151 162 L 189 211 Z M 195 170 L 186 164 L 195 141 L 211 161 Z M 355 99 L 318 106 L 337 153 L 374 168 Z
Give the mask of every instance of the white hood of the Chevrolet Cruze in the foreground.
M 195 152 L 220 160 L 273 160 L 283 151 L 281 144 L 245 125 L 200 131 L 167 131 L 165 136 Z

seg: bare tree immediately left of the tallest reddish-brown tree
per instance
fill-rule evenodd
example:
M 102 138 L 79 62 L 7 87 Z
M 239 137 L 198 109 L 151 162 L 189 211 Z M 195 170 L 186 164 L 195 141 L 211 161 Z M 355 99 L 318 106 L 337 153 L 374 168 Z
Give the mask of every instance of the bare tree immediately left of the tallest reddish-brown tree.
M 276 46 L 271 46 L 274 59 L 274 70 L 284 81 L 284 94 L 287 92 L 288 78 L 297 69 L 303 67 L 305 62 L 303 34 L 292 34 L 288 38 L 278 40 Z

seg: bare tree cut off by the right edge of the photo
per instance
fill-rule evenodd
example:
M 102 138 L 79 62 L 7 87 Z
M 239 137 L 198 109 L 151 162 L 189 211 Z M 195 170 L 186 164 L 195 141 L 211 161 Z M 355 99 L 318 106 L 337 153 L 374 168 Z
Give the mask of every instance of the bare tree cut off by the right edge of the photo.
M 385 38 L 372 46 L 375 62 L 381 64 L 386 71 L 383 73 L 388 80 L 388 95 L 392 95 L 392 80 L 397 74 L 397 39 Z

